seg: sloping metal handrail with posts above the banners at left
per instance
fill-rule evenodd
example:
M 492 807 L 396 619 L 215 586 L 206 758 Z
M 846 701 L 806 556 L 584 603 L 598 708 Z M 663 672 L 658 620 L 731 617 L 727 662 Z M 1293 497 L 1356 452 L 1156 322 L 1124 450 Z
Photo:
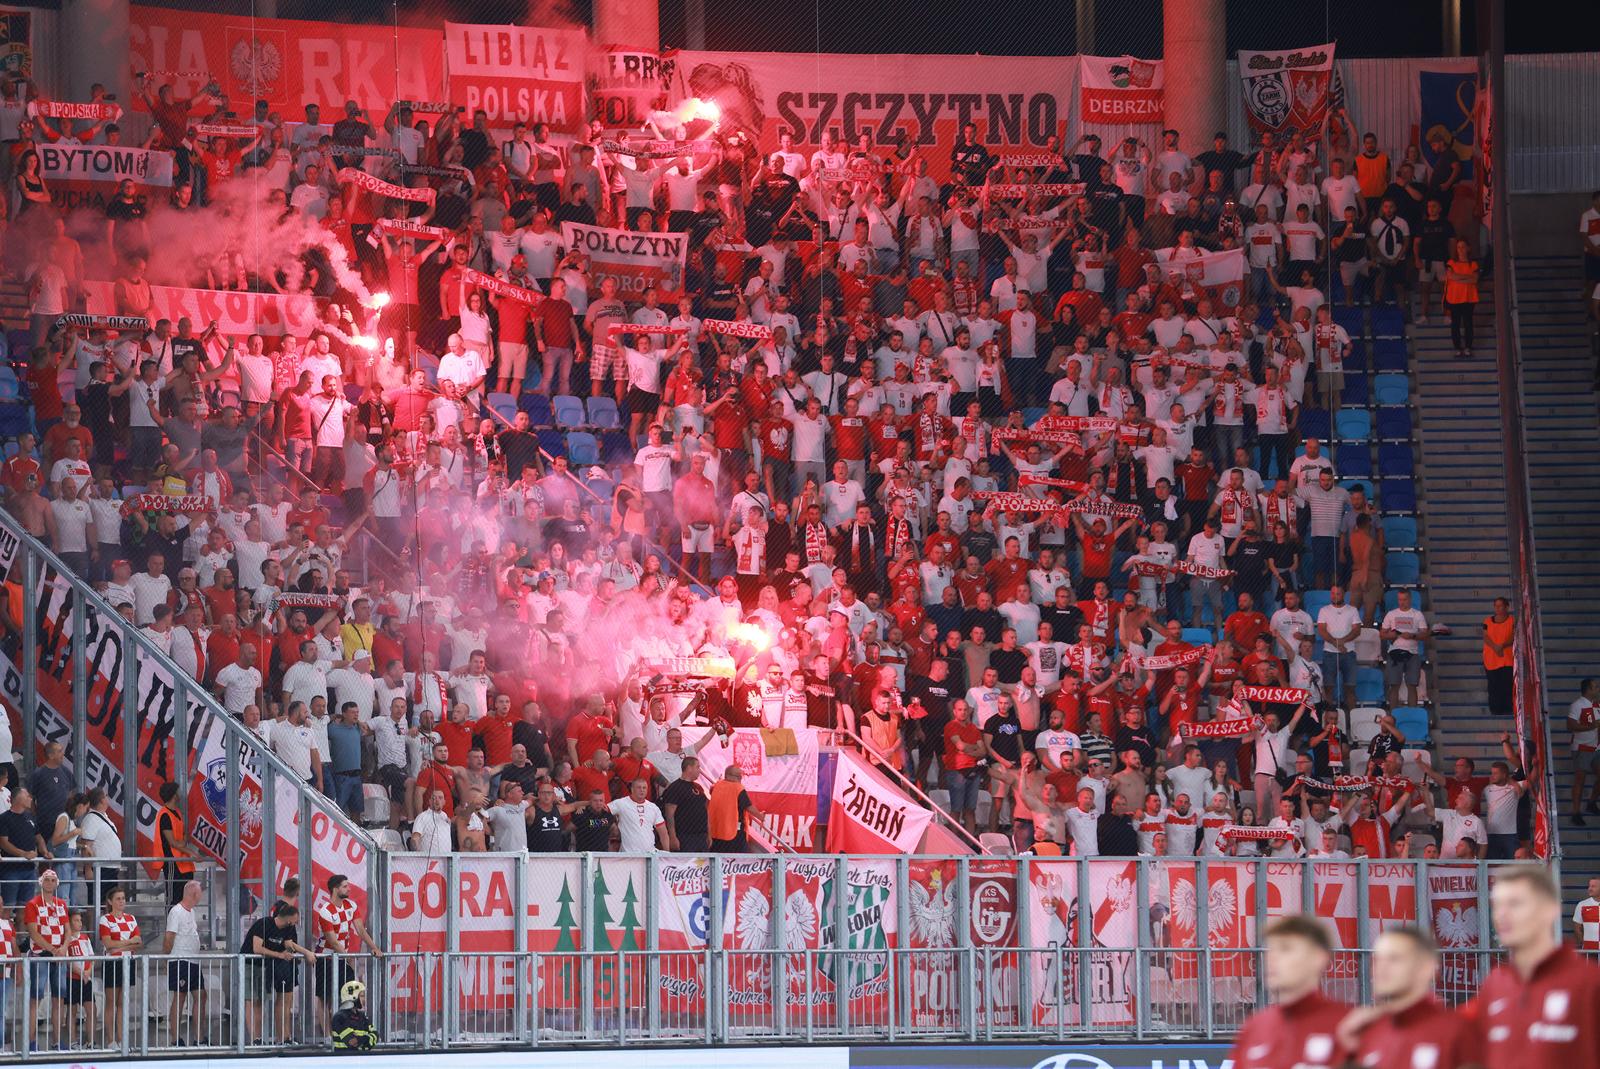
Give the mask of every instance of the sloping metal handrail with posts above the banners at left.
M 272 800 L 272 795 L 275 794 L 275 783 L 277 783 L 277 779 L 280 779 L 280 778 L 286 779 L 288 783 L 294 784 L 296 799 L 299 799 L 299 802 L 304 807 L 307 807 L 307 811 L 317 811 L 317 810 L 320 810 L 323 813 L 323 816 L 326 816 L 328 821 L 334 823 L 344 835 L 350 837 L 354 842 L 360 843 L 366 850 L 366 856 L 368 856 L 370 864 L 371 864 L 371 859 L 374 859 L 378 856 L 378 853 L 379 853 L 378 851 L 378 843 L 373 840 L 371 835 L 366 834 L 366 831 L 363 827 L 360 827 L 355 821 L 349 819 L 344 815 L 344 811 L 339 810 L 338 805 L 334 805 L 331 802 L 331 799 L 326 799 L 325 795 L 312 791 L 310 786 L 306 781 L 302 781 L 294 773 L 294 770 L 291 770 L 288 767 L 288 763 L 283 762 L 282 757 L 278 757 L 272 749 L 269 749 L 261 741 L 259 736 L 256 736 L 253 731 L 250 731 L 248 728 L 245 728 L 243 723 L 240 723 L 230 712 L 227 712 L 222 707 L 222 704 L 210 691 L 206 691 L 206 688 L 205 688 L 203 683 L 200 683 L 198 680 L 195 680 L 194 677 L 190 677 L 182 667 L 179 667 L 178 663 L 173 661 L 173 658 L 166 651 L 163 651 L 160 647 L 157 647 L 154 642 L 150 642 L 150 639 L 139 627 L 134 627 L 133 624 L 128 624 L 126 621 L 123 621 L 122 615 L 115 608 L 112 608 L 99 594 L 96 594 L 94 589 L 88 583 L 85 583 L 78 575 L 75 575 L 54 552 L 50 551 L 50 547 L 46 547 L 37 538 L 34 538 L 32 534 L 29 534 L 27 530 L 24 530 L 22 525 L 16 520 L 16 517 L 11 515 L 11 512 L 6 510 L 6 509 L 3 509 L 3 507 L 0 507 L 0 528 L 3 528 L 5 531 L 8 531 L 13 538 L 16 538 L 19 541 L 19 546 L 16 549 L 16 557 L 14 557 L 14 560 L 18 563 L 21 563 L 22 560 L 27 559 L 27 557 L 24 557 L 24 554 L 29 554 L 34 559 L 42 560 L 43 563 L 50 565 L 56 571 L 56 575 L 64 583 L 67 583 L 67 586 L 72 589 L 74 595 L 78 597 L 78 599 L 82 599 L 82 605 L 86 607 L 88 610 L 94 611 L 99 616 L 101 621 L 104 621 L 109 627 L 112 627 L 115 631 L 115 634 L 125 643 L 123 645 L 123 656 L 126 656 L 126 651 L 128 651 L 128 645 L 126 643 L 131 642 L 133 648 L 138 650 L 139 655 L 142 655 L 144 658 L 149 658 L 155 666 L 162 667 L 173 679 L 174 685 L 178 687 L 178 693 L 189 703 L 189 711 L 190 712 L 194 712 L 195 709 L 198 709 L 202 712 L 211 714 L 210 719 L 214 723 L 218 723 L 218 725 L 222 727 L 222 731 L 227 736 L 227 746 L 229 746 L 230 751 L 235 751 L 238 754 L 250 754 L 258 762 L 258 768 L 262 770 L 261 787 L 262 787 L 262 792 L 264 792 L 264 807 L 267 807 L 266 808 L 267 813 L 272 813 L 275 810 L 275 802 Z M 26 594 L 30 595 L 32 592 L 26 592 Z M 32 611 L 34 611 L 32 605 L 34 605 L 34 600 L 30 597 L 24 597 L 24 616 L 26 618 L 32 616 Z M 24 619 L 21 623 L 24 624 L 24 627 L 27 627 L 29 619 Z M 35 631 L 37 631 L 37 623 L 34 626 L 35 626 Z M 77 627 L 77 631 L 82 631 L 82 627 Z M 30 639 L 30 637 L 26 635 L 26 639 Z M 24 642 L 24 656 L 22 656 L 22 664 L 21 664 L 21 671 L 24 674 L 24 679 L 27 679 L 29 674 L 38 672 L 38 663 L 37 663 L 37 659 L 34 659 L 32 663 L 29 663 L 27 645 L 29 645 L 29 642 Z M 83 690 L 86 691 L 88 687 L 83 687 Z M 123 738 L 122 738 L 123 752 L 128 754 L 130 760 L 131 760 L 131 755 L 136 752 L 138 746 L 136 746 L 134 741 L 131 741 L 131 739 L 126 738 L 126 730 L 128 730 L 128 725 L 130 725 L 130 720 L 131 720 L 131 717 L 128 715 L 128 711 L 131 711 L 134 707 L 136 696 L 133 693 L 130 693 L 128 688 L 123 688 L 122 699 L 123 699 L 123 715 L 117 722 L 117 730 L 123 731 Z M 77 720 L 77 714 L 75 712 L 74 712 L 74 720 Z M 187 727 L 184 727 L 182 731 L 187 731 Z M 80 739 L 85 738 L 86 736 L 86 725 L 85 723 L 74 723 L 74 735 L 77 738 L 80 738 Z M 182 743 L 182 741 L 186 741 L 182 735 L 179 735 L 174 739 L 174 743 Z M 192 743 L 192 739 L 187 739 L 187 741 Z M 182 759 L 187 757 L 187 754 L 179 754 L 178 757 L 182 760 Z M 32 759 L 34 759 L 34 755 L 27 754 L 27 760 L 32 760 Z M 186 765 L 182 765 L 182 767 L 186 768 Z M 270 773 L 270 775 L 267 775 L 267 773 Z M 189 789 L 187 787 L 189 787 L 189 784 L 184 783 L 184 784 L 181 784 L 181 787 L 182 789 L 178 794 L 179 805 L 187 807 L 187 799 L 189 799 Z M 136 784 L 133 781 L 125 783 L 125 789 L 130 791 L 130 792 L 136 792 Z M 134 803 L 136 802 L 138 802 L 138 799 L 134 799 Z M 237 811 L 237 807 L 229 807 L 229 808 Z M 125 826 L 128 823 L 131 823 L 131 821 L 136 821 L 134 813 L 136 813 L 136 807 L 130 808 L 128 807 L 128 799 L 123 799 L 123 823 L 125 823 Z M 267 829 L 264 829 L 264 834 L 275 835 L 277 831 L 278 831 L 277 827 L 267 827 Z M 299 835 L 301 835 L 299 845 L 301 845 L 301 853 L 302 855 L 306 855 L 306 851 L 304 851 L 304 847 L 306 847 L 304 834 L 309 829 L 299 829 Z M 126 834 L 126 829 L 125 829 L 125 834 Z M 237 842 L 237 839 L 235 839 L 235 842 Z M 309 856 L 302 856 L 301 861 L 302 861 L 302 864 L 309 864 Z M 230 863 L 224 863 L 224 867 L 227 864 L 230 864 Z M 272 874 L 270 872 L 262 872 L 262 879 L 264 880 L 270 880 Z M 374 891 L 376 891 L 376 888 L 374 888 Z M 237 901 L 237 896 L 230 895 L 229 901 L 230 903 Z

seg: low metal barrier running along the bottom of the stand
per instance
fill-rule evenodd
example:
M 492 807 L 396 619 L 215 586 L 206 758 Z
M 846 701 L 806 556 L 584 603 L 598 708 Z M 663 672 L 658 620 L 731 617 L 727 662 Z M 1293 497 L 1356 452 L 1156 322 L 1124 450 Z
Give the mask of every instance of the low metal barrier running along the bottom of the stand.
M 1261 951 L 1206 947 L 896 949 L 886 984 L 845 997 L 829 976 L 850 975 L 856 951 L 634 951 L 576 954 L 411 954 L 282 962 L 248 954 L 190 957 L 0 959 L 0 1058 L 150 1056 L 182 1050 L 330 1048 L 346 979 L 366 984 L 379 1047 L 638 1047 L 746 1042 L 1037 1042 L 1077 1039 L 1224 1039 L 1267 1002 Z M 1341 952 L 1325 991 L 1366 1000 L 1368 951 Z M 1437 995 L 1475 992 L 1494 952 L 1451 952 Z M 1133 987 L 1094 1002 L 1114 970 Z M 442 994 L 483 970 L 515 981 L 515 995 L 480 1002 Z M 786 997 L 730 1002 L 730 981 L 758 970 Z M 421 975 L 418 991 L 405 978 Z M 566 987 L 562 976 L 581 986 Z M 398 978 L 398 979 L 397 979 Z M 693 979 L 691 979 L 693 978 Z M 706 978 L 688 1007 L 686 984 Z

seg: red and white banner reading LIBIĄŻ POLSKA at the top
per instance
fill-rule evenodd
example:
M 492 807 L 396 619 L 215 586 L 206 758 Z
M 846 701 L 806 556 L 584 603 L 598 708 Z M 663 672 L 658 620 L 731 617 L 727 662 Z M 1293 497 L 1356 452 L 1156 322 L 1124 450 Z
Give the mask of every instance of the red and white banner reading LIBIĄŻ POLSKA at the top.
M 445 22 L 450 99 L 488 114 L 491 126 L 584 123 L 584 32 L 536 26 Z

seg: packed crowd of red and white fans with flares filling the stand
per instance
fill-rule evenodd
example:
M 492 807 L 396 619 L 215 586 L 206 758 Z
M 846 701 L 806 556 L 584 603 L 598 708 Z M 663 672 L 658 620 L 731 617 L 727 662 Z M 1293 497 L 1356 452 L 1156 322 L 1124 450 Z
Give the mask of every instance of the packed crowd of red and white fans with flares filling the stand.
M 411 848 L 742 850 L 749 795 L 694 760 L 726 727 L 835 730 L 1038 851 L 1523 848 L 1538 770 L 1509 743 L 1448 778 L 1394 717 L 1352 744 L 1363 629 L 1384 704 L 1414 704 L 1429 621 L 1386 591 L 1371 488 L 1302 432 L 1341 405 L 1336 307 L 1448 314 L 1470 349 L 1459 163 L 1346 114 L 1326 142 L 1008 162 L 973 126 L 938 160 L 670 117 L 557 146 L 411 102 L 330 123 L 139 93 L 173 195 L 130 184 L 88 227 L 37 146 L 123 133 L 0 107 L 37 426 L 5 504 Z M 150 314 L 162 234 L 240 195 L 317 243 L 262 267 L 221 235 L 158 282 L 312 293 L 307 336 Z M 682 285 L 594 282 L 562 222 L 686 234 Z M 1235 248 L 1237 283 L 1184 269 Z M 150 322 L 74 322 L 94 278 Z M 1498 607 L 1491 691 L 1509 643 Z M 736 669 L 683 722 L 658 690 L 688 661 Z M 45 856 L 86 807 L 10 797 Z M 192 850 L 181 824 L 162 845 Z

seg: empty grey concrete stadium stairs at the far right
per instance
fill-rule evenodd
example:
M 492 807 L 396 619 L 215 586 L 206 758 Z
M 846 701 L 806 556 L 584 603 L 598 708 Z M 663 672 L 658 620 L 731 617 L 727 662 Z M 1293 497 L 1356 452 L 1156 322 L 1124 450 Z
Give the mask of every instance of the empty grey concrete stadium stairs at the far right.
M 1600 875 L 1600 816 L 1587 827 L 1571 823 L 1571 759 L 1566 707 L 1586 675 L 1600 675 L 1600 618 L 1594 591 L 1594 517 L 1600 512 L 1600 414 L 1590 328 L 1578 299 L 1582 266 L 1576 254 L 1518 256 L 1517 320 L 1522 342 L 1522 392 L 1533 491 L 1539 618 L 1546 709 L 1555 754 L 1562 882 L 1574 901 L 1584 882 Z

